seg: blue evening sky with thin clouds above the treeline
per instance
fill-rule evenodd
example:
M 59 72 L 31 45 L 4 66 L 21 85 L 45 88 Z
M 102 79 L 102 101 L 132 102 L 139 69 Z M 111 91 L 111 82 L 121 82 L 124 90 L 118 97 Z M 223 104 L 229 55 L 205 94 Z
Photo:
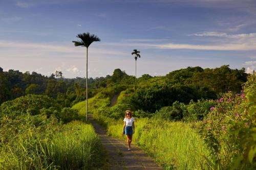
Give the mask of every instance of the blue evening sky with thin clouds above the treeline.
M 89 47 L 89 77 L 115 68 L 137 76 L 201 66 L 256 70 L 256 0 L 0 0 L 0 67 L 55 70 L 86 76 L 83 32 L 101 41 Z

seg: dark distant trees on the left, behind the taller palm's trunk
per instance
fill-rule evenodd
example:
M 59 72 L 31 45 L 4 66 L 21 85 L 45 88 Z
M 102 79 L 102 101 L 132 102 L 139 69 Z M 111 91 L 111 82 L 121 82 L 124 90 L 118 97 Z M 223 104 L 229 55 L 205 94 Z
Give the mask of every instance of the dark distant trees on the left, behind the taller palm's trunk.
M 0 67 L 0 104 L 27 94 L 44 94 L 58 99 L 63 107 L 70 107 L 85 99 L 85 82 L 86 79 L 79 77 L 65 79 L 61 71 L 56 71 L 48 77 L 29 71 L 24 73 L 13 69 L 3 71 Z M 111 76 L 90 78 L 88 82 L 89 97 L 92 97 L 100 91 L 100 88 L 106 87 L 106 82 L 111 82 Z

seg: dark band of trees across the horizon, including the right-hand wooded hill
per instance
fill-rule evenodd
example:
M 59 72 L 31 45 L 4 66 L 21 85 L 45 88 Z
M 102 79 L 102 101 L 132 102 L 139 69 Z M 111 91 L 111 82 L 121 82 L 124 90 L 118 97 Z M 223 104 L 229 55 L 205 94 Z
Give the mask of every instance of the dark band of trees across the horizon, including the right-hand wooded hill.
M 162 77 L 142 75 L 135 84 L 134 76 L 115 69 L 112 76 L 90 78 L 88 81 L 89 98 L 103 88 L 121 85 L 124 90 L 136 86 L 137 92 L 132 98 L 134 104 L 140 109 L 155 111 L 175 101 L 189 103 L 191 99 L 215 99 L 220 92 L 240 92 L 241 85 L 247 81 L 247 74 L 245 68 L 230 69 L 229 65 L 215 69 L 187 67 Z M 70 107 L 86 99 L 85 85 L 86 79 L 66 79 L 62 77 L 61 71 L 47 77 L 36 72 L 3 71 L 0 67 L 0 104 L 27 94 L 45 94 L 62 106 Z

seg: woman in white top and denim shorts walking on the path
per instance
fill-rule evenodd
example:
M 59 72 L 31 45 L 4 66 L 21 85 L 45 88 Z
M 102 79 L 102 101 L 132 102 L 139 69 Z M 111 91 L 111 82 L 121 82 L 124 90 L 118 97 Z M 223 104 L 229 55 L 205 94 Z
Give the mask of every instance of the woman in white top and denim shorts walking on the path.
M 134 125 L 134 117 L 132 117 L 132 112 L 130 110 L 125 111 L 125 117 L 123 119 L 123 134 L 127 137 L 127 145 L 128 151 L 131 151 L 131 142 L 133 138 L 133 134 L 135 132 L 135 125 Z

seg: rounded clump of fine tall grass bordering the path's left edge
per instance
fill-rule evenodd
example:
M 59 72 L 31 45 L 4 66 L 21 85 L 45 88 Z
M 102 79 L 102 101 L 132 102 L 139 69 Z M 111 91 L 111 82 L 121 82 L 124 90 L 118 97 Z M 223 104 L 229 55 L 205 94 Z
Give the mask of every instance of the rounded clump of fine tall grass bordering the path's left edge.
M 72 122 L 53 136 L 47 154 L 61 169 L 91 169 L 99 162 L 99 138 L 93 127 Z

